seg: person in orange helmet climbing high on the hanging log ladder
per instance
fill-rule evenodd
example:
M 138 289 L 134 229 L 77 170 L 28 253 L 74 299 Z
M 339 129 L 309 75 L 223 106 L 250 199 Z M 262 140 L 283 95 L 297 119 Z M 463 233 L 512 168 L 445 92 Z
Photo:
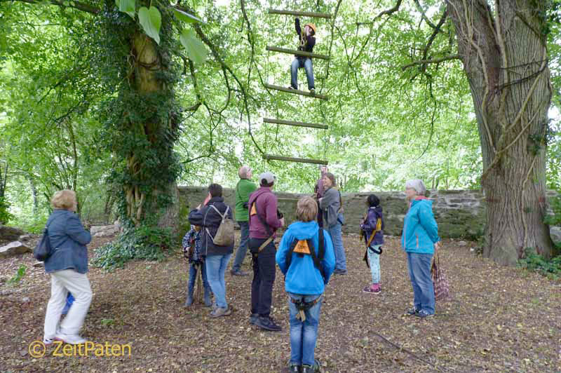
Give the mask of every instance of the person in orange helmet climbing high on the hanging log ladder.
M 312 53 L 313 46 L 316 45 L 316 25 L 308 23 L 304 25 L 304 32 L 300 28 L 300 20 L 295 20 L 296 34 L 299 38 L 298 50 Z M 308 89 L 310 93 L 316 93 L 316 88 L 313 86 L 313 67 L 311 57 L 304 57 L 296 55 L 290 67 L 290 87 L 298 89 L 298 69 L 304 67 L 306 78 L 308 79 Z

